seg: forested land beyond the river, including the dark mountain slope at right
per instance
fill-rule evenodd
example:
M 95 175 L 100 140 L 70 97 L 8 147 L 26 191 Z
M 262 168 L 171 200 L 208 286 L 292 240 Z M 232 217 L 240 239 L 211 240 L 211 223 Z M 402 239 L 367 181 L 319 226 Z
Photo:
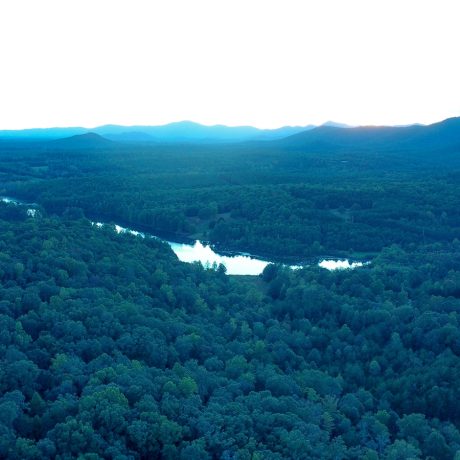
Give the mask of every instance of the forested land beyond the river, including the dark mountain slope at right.
M 452 241 L 460 121 L 401 129 L 325 127 L 214 145 L 0 140 L 0 177 L 4 191 L 50 213 L 80 208 L 281 261 Z

